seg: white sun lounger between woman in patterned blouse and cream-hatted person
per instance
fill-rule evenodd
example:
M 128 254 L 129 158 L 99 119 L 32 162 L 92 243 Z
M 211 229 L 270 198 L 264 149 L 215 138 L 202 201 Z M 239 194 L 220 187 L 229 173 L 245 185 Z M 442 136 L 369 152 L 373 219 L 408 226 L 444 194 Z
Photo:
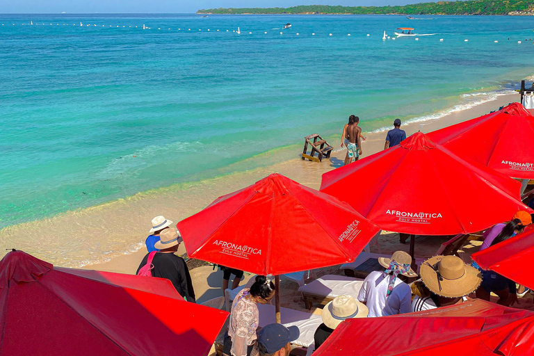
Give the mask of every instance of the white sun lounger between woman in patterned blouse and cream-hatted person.
M 275 306 L 258 304 L 259 326 L 264 327 L 275 323 Z M 314 334 L 317 327 L 323 323 L 320 315 L 300 312 L 294 309 L 280 308 L 282 325 L 289 327 L 295 325 L 300 330 L 300 337 L 292 343 L 307 348 L 314 342 Z

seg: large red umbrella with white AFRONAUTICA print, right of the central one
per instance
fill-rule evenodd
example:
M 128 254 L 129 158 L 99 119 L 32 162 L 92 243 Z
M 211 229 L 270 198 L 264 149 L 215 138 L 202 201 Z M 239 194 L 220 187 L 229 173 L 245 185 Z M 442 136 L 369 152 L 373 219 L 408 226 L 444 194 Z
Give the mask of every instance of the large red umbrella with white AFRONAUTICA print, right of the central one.
M 348 202 L 382 229 L 405 234 L 477 232 L 510 220 L 521 184 L 469 163 L 421 132 L 323 175 L 321 191 Z

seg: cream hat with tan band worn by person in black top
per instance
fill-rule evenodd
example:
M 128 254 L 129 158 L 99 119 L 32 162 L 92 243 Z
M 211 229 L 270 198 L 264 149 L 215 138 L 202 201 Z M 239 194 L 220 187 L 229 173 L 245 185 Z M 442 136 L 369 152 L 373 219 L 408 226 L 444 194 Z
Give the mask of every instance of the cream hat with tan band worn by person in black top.
M 322 318 L 327 327 L 335 329 L 345 319 L 366 318 L 367 314 L 369 309 L 353 296 L 337 296 L 325 305 Z

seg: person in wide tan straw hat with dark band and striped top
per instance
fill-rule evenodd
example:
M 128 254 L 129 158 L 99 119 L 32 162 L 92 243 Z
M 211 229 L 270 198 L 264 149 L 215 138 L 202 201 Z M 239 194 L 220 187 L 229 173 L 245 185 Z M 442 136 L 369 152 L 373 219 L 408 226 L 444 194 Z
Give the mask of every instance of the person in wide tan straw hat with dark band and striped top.
M 435 256 L 421 264 L 421 281 L 428 289 L 427 297 L 415 296 L 412 312 L 454 305 L 476 291 L 482 282 L 480 272 L 456 256 Z

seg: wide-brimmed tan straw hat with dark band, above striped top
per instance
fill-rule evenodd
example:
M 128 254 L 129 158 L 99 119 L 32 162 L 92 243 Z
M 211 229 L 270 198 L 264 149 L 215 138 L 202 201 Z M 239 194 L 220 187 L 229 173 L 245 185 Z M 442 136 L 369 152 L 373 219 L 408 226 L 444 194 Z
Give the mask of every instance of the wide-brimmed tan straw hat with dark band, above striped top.
M 421 280 L 432 293 L 447 298 L 467 296 L 482 283 L 480 272 L 456 256 L 435 256 L 421 264 Z

